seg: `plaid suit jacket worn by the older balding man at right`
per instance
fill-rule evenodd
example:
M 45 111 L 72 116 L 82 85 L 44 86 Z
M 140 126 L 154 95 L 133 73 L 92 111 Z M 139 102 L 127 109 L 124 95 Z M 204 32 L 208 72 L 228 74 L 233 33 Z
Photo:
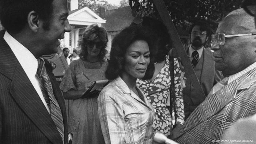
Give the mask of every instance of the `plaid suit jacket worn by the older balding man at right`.
M 256 68 L 227 84 L 189 115 L 174 140 L 181 144 L 218 143 L 234 122 L 256 113 Z

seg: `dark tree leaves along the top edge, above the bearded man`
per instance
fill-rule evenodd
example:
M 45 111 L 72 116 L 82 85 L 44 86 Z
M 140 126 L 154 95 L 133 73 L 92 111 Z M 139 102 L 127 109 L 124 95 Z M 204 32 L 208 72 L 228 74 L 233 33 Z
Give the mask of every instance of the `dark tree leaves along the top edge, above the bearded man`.
M 159 18 L 153 0 L 129 0 L 132 11 L 138 16 Z M 164 0 L 176 26 L 187 29 L 191 22 L 204 20 L 212 29 L 231 11 L 241 7 L 241 0 Z M 134 7 L 139 3 L 139 8 Z

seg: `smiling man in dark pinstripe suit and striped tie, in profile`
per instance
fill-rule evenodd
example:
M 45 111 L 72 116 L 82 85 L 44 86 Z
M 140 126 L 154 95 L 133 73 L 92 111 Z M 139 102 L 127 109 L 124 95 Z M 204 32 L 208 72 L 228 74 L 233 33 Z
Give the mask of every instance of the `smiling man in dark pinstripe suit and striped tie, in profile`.
M 42 58 L 71 31 L 67 16 L 67 0 L 0 0 L 1 144 L 68 143 L 64 99 Z

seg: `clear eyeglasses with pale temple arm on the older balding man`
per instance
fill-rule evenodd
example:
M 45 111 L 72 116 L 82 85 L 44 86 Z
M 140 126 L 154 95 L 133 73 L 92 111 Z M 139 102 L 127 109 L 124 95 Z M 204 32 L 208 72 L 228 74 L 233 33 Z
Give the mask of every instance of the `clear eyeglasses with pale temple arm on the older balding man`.
M 211 43 L 218 42 L 219 45 L 223 46 L 225 44 L 225 38 L 229 37 L 240 37 L 240 36 L 246 36 L 246 35 L 256 35 L 256 33 L 249 33 L 249 34 L 231 34 L 231 35 L 225 35 L 223 33 L 218 34 L 212 34 L 211 35 Z

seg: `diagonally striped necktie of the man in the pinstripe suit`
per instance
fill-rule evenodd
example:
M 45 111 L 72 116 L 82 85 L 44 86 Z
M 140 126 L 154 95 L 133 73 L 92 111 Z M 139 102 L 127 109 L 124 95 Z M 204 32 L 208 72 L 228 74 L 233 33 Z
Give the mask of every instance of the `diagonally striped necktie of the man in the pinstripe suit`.
M 56 125 L 57 130 L 60 133 L 62 141 L 64 143 L 64 125 L 63 125 L 63 117 L 61 114 L 60 106 L 55 99 L 52 89 L 52 83 L 50 82 L 50 78 L 46 73 L 46 69 L 44 66 L 44 60 L 41 58 L 37 59 L 38 61 L 38 68 L 37 68 L 37 75 L 38 81 L 40 83 L 40 88 L 44 99 L 47 103 L 47 106 L 50 109 L 50 116 Z

